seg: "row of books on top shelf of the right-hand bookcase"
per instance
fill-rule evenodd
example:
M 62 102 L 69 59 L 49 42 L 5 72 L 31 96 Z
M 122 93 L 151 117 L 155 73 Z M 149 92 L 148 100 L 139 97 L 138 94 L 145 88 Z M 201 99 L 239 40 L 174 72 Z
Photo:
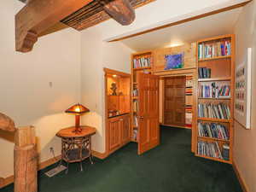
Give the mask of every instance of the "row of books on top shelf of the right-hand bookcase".
M 219 41 L 212 44 L 198 45 L 198 58 L 207 59 L 218 56 L 231 55 L 231 43 L 229 40 Z

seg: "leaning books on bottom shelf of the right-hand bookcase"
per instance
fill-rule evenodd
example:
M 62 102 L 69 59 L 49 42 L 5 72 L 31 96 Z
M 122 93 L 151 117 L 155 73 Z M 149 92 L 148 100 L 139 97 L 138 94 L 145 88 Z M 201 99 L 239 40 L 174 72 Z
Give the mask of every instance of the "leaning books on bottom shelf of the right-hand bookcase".
M 224 160 L 223 154 L 221 154 L 218 142 L 203 142 L 197 143 L 197 153 L 207 157 L 218 158 Z

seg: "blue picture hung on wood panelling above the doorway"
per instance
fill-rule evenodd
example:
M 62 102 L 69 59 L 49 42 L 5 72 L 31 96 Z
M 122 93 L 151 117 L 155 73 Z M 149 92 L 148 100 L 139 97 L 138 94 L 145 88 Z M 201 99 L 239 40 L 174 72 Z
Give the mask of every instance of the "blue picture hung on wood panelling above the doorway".
M 183 68 L 184 54 L 165 55 L 166 68 L 165 70 Z

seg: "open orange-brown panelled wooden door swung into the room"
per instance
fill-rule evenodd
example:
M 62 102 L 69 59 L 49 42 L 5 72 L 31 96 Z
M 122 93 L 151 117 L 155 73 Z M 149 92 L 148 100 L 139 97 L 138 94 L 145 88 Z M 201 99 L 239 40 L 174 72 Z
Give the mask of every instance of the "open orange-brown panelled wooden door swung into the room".
M 138 86 L 138 154 L 143 154 L 160 143 L 159 127 L 159 77 L 137 74 Z

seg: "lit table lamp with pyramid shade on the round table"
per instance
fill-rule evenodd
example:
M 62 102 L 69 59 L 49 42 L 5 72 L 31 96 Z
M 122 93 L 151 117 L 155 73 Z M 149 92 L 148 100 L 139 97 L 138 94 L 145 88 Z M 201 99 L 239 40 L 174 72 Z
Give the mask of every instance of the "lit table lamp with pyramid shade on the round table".
M 76 132 L 76 133 L 81 132 L 82 129 L 80 128 L 80 115 L 82 115 L 83 113 L 86 113 L 86 112 L 90 112 L 90 110 L 78 103 L 78 104 L 73 105 L 70 108 L 67 108 L 67 110 L 65 112 L 73 113 L 76 115 L 76 125 L 75 125 L 74 132 Z

